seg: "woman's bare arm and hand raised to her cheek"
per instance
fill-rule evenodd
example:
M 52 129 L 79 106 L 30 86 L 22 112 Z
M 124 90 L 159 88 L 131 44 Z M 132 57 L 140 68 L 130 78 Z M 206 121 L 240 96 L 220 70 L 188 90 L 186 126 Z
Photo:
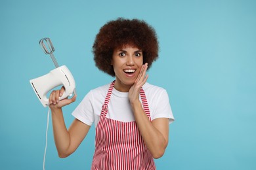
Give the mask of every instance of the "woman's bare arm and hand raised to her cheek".
M 146 75 L 147 68 L 147 63 L 142 65 L 142 69 L 140 70 L 137 80 L 135 80 L 135 84 L 133 84 L 129 90 L 129 101 L 133 109 L 135 121 L 146 146 L 154 158 L 160 158 L 163 156 L 168 144 L 169 119 L 157 118 L 150 122 L 142 108 L 139 100 L 139 91 L 140 87 L 142 87 L 148 79 L 148 75 Z

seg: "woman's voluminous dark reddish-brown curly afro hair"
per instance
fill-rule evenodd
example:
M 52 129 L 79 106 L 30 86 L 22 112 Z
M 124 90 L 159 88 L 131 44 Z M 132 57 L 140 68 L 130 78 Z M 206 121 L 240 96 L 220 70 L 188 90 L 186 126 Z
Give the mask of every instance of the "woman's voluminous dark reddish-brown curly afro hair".
M 143 64 L 148 63 L 148 69 L 158 58 L 158 39 L 152 26 L 143 20 L 117 18 L 103 25 L 96 35 L 93 44 L 96 67 L 110 76 L 115 76 L 111 65 L 114 49 L 126 44 L 142 50 Z

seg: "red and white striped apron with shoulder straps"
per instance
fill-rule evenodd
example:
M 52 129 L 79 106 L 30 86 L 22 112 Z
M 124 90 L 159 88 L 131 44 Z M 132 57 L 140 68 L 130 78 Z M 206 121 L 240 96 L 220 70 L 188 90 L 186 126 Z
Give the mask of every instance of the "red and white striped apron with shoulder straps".
M 108 102 L 115 81 L 110 84 L 96 127 L 95 155 L 91 169 L 156 169 L 135 121 L 120 122 L 106 118 Z M 144 90 L 140 88 L 142 106 L 148 118 L 150 111 Z

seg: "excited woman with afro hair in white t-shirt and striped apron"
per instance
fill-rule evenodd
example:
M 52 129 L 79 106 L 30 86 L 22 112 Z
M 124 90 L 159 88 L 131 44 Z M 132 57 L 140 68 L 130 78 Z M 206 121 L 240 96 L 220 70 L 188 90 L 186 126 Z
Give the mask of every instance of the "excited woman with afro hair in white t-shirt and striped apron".
M 64 88 L 49 97 L 54 141 L 60 158 L 72 154 L 96 127 L 91 169 L 156 169 L 168 144 L 169 124 L 174 120 L 167 92 L 146 82 L 147 69 L 158 58 L 154 29 L 141 20 L 117 20 L 105 24 L 93 45 L 98 69 L 114 76 L 111 84 L 91 90 L 72 113 L 66 129 L 62 107 L 75 101 L 58 101 Z

